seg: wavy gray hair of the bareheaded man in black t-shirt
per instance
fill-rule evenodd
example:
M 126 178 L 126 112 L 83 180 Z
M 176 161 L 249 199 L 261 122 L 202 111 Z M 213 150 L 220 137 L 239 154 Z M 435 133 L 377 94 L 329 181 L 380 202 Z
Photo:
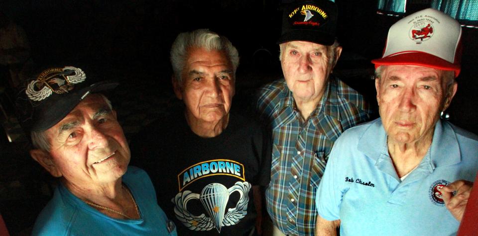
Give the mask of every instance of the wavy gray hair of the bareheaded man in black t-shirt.
M 233 64 L 234 73 L 239 66 L 239 53 L 231 41 L 224 36 L 210 31 L 209 29 L 197 29 L 191 32 L 183 32 L 176 37 L 171 46 L 171 65 L 174 78 L 181 84 L 181 74 L 186 66 L 188 51 L 191 48 L 203 48 L 207 51 L 223 51 L 228 55 Z

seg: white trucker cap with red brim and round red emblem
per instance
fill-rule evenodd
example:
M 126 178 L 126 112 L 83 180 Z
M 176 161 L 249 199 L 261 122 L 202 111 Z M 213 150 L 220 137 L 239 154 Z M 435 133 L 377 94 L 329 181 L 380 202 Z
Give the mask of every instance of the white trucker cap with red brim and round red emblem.
M 375 68 L 385 65 L 414 65 L 460 74 L 462 27 L 447 14 L 427 8 L 397 21 L 388 30 Z

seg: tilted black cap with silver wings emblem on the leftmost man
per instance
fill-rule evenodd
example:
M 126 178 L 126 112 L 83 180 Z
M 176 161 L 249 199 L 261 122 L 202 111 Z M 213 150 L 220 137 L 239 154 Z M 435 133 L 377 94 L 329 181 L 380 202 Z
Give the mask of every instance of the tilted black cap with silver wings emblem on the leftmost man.
M 70 113 L 88 94 L 118 86 L 112 80 L 86 79 L 76 67 L 49 68 L 30 79 L 15 99 L 17 116 L 23 129 L 45 131 Z

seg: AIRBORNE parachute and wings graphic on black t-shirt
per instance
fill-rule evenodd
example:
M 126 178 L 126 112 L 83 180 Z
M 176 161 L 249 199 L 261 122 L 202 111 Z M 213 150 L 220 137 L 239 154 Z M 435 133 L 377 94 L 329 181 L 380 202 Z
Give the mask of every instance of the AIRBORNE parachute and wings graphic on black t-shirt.
M 200 194 L 189 190 L 181 192 L 195 180 L 211 175 L 229 175 L 242 181 L 236 182 L 230 188 L 220 183 L 210 183 Z M 194 164 L 178 174 L 178 185 L 179 193 L 172 199 L 175 204 L 174 213 L 178 220 L 190 230 L 209 231 L 216 228 L 218 232 L 221 232 L 221 227 L 236 225 L 247 215 L 251 184 L 245 181 L 244 165 L 237 161 L 216 159 Z M 229 196 L 234 192 L 239 193 L 239 201 L 236 207 L 229 208 L 226 213 Z M 193 199 L 201 202 L 207 214 L 195 216 L 188 211 L 188 202 Z

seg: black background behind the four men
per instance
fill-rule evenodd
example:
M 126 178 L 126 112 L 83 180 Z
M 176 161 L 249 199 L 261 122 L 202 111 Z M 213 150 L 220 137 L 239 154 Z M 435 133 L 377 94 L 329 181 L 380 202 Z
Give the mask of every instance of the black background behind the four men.
M 285 1 L 284 1 L 285 2 Z M 409 1 L 407 14 L 426 1 Z M 0 10 L 26 32 L 38 68 L 76 66 L 88 78 L 117 79 L 111 96 L 126 137 L 180 104 L 172 93 L 169 48 L 179 32 L 209 28 L 228 37 L 241 57 L 234 106 L 249 108 L 255 89 L 278 79 L 278 0 L 1 0 Z M 344 51 L 334 74 L 375 104 L 373 65 L 399 17 L 376 13 L 376 0 L 336 0 Z M 458 92 L 447 111 L 477 133 L 477 29 L 463 27 Z M 2 78 L 4 83 L 5 78 Z M 2 102 L 9 98 L 2 95 Z M 8 107 L 6 107 L 8 111 Z M 21 132 L 21 131 L 19 131 Z M 2 136 L 3 133 L 1 133 Z M 51 198 L 54 181 L 27 154 L 29 144 L 1 137 L 0 212 L 11 235 L 28 235 Z M 134 158 L 134 157 L 132 157 Z

